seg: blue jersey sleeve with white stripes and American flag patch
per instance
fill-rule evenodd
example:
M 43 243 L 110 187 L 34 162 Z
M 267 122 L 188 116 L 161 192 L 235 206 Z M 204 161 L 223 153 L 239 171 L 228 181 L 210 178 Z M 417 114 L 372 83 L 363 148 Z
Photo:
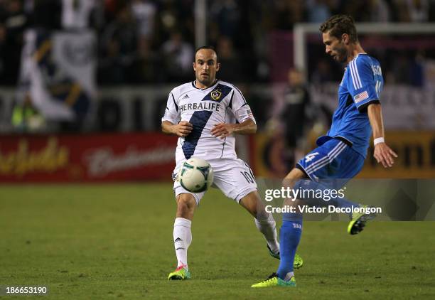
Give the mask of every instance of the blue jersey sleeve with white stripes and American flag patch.
M 349 69 L 348 90 L 358 110 L 363 112 L 368 105 L 380 103 L 382 81 L 377 80 L 367 60 L 357 58 L 349 63 Z

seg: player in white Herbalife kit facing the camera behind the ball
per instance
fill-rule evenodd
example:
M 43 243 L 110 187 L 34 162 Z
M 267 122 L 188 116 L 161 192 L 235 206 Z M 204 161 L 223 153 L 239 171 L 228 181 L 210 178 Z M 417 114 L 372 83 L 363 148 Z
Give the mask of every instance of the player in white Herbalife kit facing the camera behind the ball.
M 274 218 L 264 210 L 252 170 L 235 153 L 234 134 L 254 134 L 257 124 L 240 90 L 216 79 L 219 68 L 218 55 L 212 47 L 198 48 L 193 63 L 196 80 L 169 93 L 161 127 L 164 133 L 178 136 L 173 178 L 191 156 L 208 161 L 214 171 L 213 185 L 254 216 L 255 225 L 267 240 L 269 254 L 279 258 Z M 168 279 L 190 279 L 187 261 L 192 240 L 190 225 L 205 193 L 191 193 L 178 181 L 173 191 L 177 203 L 173 242 L 178 265 Z M 297 257 L 295 267 L 301 264 Z

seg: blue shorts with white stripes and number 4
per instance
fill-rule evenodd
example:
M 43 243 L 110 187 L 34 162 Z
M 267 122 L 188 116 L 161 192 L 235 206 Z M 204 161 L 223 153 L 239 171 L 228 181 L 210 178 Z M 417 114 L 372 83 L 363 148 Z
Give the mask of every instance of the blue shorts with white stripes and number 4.
M 343 186 L 364 165 L 364 156 L 340 139 L 329 139 L 301 159 L 296 168 L 301 169 L 313 181 L 342 179 Z

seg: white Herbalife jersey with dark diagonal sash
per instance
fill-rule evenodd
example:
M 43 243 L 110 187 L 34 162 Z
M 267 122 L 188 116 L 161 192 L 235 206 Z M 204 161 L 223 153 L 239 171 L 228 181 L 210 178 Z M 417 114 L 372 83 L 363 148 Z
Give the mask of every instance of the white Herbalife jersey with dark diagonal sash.
M 234 85 L 222 80 L 206 89 L 198 89 L 195 82 L 175 87 L 168 96 L 165 114 L 161 119 L 173 124 L 186 121 L 193 124 L 193 130 L 186 137 L 178 138 L 176 163 L 190 159 L 237 158 L 235 137 L 220 139 L 211 134 L 218 123 L 242 123 L 247 119 L 255 122 L 251 109 L 242 92 Z

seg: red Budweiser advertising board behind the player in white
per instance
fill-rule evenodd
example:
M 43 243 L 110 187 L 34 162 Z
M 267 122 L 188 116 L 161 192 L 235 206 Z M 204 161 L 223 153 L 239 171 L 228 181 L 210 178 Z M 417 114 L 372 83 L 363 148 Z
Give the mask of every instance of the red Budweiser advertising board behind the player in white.
M 0 182 L 171 180 L 176 136 L 0 136 Z

